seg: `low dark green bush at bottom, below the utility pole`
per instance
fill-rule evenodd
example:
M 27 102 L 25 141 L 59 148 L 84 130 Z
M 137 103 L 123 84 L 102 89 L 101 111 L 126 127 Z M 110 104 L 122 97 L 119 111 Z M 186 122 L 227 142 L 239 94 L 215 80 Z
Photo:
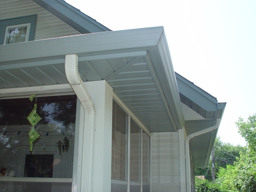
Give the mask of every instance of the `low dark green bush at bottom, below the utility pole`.
M 195 178 L 196 192 L 221 192 L 218 184 L 213 184 L 208 180 Z

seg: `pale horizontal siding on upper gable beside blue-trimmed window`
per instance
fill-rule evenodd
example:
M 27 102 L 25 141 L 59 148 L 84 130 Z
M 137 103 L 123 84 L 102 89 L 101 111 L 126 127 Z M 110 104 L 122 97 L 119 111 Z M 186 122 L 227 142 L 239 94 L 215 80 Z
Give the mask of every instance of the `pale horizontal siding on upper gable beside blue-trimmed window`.
M 37 14 L 35 40 L 80 34 L 32 0 L 0 1 L 0 20 Z

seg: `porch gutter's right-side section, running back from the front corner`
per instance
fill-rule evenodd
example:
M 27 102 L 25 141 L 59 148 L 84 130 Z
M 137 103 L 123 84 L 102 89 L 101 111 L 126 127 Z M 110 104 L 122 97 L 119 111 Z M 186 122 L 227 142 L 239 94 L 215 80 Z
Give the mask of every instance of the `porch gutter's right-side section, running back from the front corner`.
M 148 53 L 162 86 L 164 97 L 170 108 L 175 125 L 177 129 L 182 129 L 185 119 L 180 104 L 180 95 L 172 66 L 172 59 L 164 32 L 161 35 L 159 44 L 148 51 Z

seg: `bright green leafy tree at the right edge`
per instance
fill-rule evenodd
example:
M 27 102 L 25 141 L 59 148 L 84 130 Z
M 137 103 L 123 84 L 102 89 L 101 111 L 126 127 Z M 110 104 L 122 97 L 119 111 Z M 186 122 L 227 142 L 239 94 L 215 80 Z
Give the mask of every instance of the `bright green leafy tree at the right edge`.
M 256 115 L 236 122 L 239 133 L 247 141 L 246 153 L 240 154 L 234 166 L 220 169 L 217 182 L 222 191 L 254 192 L 256 189 Z

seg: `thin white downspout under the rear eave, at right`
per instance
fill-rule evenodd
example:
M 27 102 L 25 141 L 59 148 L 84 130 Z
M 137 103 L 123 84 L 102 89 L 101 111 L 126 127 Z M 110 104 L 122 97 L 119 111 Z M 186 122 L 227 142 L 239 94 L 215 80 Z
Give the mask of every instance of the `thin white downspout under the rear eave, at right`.
M 202 135 L 204 133 L 211 132 L 215 129 L 217 129 L 220 126 L 220 119 L 216 119 L 216 124 L 212 127 L 206 128 L 204 130 L 192 133 L 188 135 L 188 137 L 185 139 L 185 164 L 186 164 L 186 191 L 191 192 L 191 173 L 190 173 L 190 153 L 189 153 L 189 140 L 197 137 L 199 135 Z

